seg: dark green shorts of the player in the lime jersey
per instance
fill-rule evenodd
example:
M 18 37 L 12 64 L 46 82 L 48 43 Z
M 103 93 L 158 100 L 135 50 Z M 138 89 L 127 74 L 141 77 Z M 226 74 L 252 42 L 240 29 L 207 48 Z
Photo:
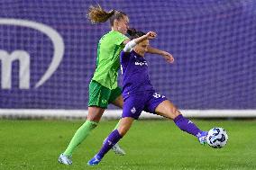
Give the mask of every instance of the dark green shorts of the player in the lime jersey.
M 120 87 L 113 90 L 92 80 L 89 85 L 89 102 L 88 106 L 98 106 L 107 108 L 108 103 L 112 103 L 118 96 L 122 94 Z

